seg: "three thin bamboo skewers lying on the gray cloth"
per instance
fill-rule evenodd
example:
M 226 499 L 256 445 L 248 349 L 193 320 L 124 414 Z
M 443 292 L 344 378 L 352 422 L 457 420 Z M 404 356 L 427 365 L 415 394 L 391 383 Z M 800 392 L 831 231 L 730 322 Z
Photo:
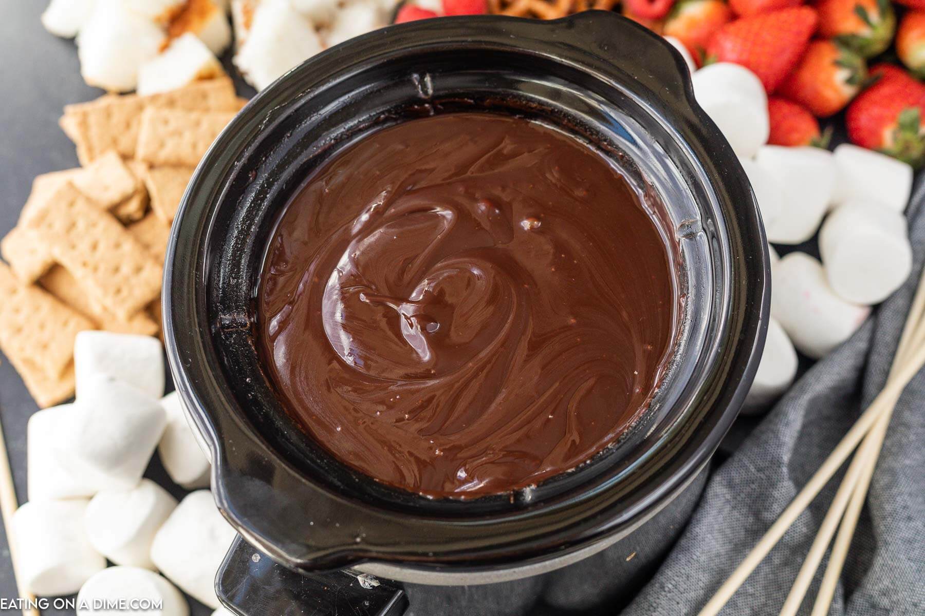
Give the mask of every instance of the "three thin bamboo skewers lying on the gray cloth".
M 793 525 L 800 513 L 808 507 L 809 503 L 819 494 L 838 468 L 844 464 L 848 456 L 855 451 L 858 442 L 862 439 L 864 444 L 857 448 L 852 464 L 845 474 L 842 485 L 835 495 L 835 500 L 823 520 L 820 534 L 816 537 L 808 553 L 807 559 L 797 574 L 794 587 L 784 603 L 782 615 L 792 615 L 799 609 L 806 590 L 819 567 L 822 556 L 825 554 L 829 542 L 841 520 L 836 545 L 838 554 L 833 551 L 826 574 L 823 576 L 824 586 L 820 588 L 820 598 L 814 607 L 813 616 L 820 616 L 815 610 L 828 610 L 831 603 L 834 586 L 837 583 L 841 568 L 844 565 L 847 548 L 850 545 L 854 528 L 857 525 L 857 516 L 863 508 L 863 503 L 870 486 L 870 477 L 880 455 L 882 441 L 889 426 L 893 409 L 903 390 L 910 380 L 925 365 L 925 272 L 919 280 L 919 287 L 912 306 L 909 309 L 906 323 L 897 345 L 894 363 L 890 370 L 881 393 L 879 393 L 868 409 L 857 419 L 855 425 L 848 430 L 845 437 L 836 445 L 833 453 L 822 463 L 819 470 L 810 477 L 807 485 L 797 493 L 796 498 L 783 510 L 777 521 L 759 540 L 755 548 L 746 555 L 746 558 L 735 568 L 729 578 L 720 586 L 712 598 L 698 613 L 698 616 L 715 616 L 722 607 L 732 598 L 734 592 L 742 586 L 765 556 L 773 549 L 783 537 L 786 530 Z M 862 495 L 858 495 L 863 492 Z M 858 502 L 859 501 L 859 502 Z M 846 513 L 847 512 L 847 513 Z M 850 513 L 852 517 L 849 517 Z M 844 517 L 843 517 L 844 515 Z M 834 550 L 834 549 L 833 549 Z M 844 553 L 843 553 L 844 550 Z M 837 560 L 835 557 L 838 557 Z M 830 573 L 831 570 L 831 573 Z M 826 579 L 826 577 L 831 579 Z M 830 587 L 831 586 L 831 587 Z M 828 603 L 822 596 L 822 591 L 829 593 Z M 824 603 L 824 608 L 822 607 Z

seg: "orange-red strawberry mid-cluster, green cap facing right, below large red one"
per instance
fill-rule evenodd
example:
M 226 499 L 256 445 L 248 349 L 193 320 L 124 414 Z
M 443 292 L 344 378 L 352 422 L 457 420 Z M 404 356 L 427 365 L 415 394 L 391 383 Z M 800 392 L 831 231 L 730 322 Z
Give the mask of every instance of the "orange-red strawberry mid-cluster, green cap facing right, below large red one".
M 860 55 L 832 41 L 813 41 L 777 93 L 817 117 L 828 117 L 845 108 L 865 79 L 867 66 Z

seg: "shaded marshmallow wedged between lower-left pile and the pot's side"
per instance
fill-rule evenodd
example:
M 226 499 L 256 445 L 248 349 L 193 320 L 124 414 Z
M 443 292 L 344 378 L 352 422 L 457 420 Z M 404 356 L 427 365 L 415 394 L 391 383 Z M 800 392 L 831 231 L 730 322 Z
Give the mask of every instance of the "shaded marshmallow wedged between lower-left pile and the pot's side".
M 196 441 L 179 394 L 168 393 L 161 405 L 166 410 L 167 425 L 157 453 L 167 475 L 186 489 L 208 488 L 211 465 Z

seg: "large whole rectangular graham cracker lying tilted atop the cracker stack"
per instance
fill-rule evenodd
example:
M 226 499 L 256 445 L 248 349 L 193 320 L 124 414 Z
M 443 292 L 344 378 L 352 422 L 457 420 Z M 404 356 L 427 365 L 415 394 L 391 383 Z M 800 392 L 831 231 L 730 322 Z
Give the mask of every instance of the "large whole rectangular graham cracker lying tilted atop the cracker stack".
M 161 265 L 73 185 L 58 189 L 29 225 L 51 247 L 55 260 L 117 317 L 128 320 L 160 293 Z

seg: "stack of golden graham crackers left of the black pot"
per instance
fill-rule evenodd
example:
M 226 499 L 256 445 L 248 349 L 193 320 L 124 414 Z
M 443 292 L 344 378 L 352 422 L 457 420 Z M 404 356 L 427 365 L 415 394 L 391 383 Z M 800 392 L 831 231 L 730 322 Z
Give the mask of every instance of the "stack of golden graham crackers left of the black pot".
M 36 177 L 0 241 L 0 349 L 40 406 L 73 395 L 77 332 L 160 332 L 170 224 L 242 104 L 223 77 L 65 108 L 82 166 Z

